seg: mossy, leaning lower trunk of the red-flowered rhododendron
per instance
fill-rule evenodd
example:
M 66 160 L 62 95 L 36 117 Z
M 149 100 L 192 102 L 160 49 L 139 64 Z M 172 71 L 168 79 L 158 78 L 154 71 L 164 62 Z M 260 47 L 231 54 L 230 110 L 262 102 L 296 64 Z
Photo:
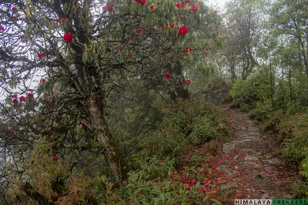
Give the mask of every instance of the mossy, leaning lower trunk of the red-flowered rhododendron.
M 98 101 L 90 97 L 87 103 L 90 110 L 91 127 L 94 129 L 94 132 L 97 134 L 103 146 L 104 156 L 112 172 L 117 177 L 117 180 L 122 181 L 127 178 L 127 173 L 130 171 L 126 159 L 122 155 L 107 127 L 102 108 L 100 108 Z

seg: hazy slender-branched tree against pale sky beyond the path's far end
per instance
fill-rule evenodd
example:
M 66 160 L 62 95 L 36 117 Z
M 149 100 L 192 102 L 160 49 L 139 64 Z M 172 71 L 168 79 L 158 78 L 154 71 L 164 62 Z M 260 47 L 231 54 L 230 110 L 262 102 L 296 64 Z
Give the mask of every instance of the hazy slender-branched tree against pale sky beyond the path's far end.
M 246 79 L 258 65 L 266 2 L 240 0 L 226 4 L 222 53 L 228 61 L 232 80 L 237 77 L 236 70 L 239 70 L 242 79 Z

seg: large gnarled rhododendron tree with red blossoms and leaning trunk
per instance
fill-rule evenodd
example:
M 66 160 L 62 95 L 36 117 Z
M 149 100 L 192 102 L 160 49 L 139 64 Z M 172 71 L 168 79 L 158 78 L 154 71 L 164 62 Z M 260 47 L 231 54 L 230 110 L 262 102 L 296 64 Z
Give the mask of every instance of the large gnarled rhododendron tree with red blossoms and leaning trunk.
M 42 156 L 49 158 L 38 158 L 37 163 L 50 165 L 57 156 L 59 160 L 52 166 L 61 162 L 68 170 L 77 169 L 76 164 L 80 170 L 86 169 L 84 151 L 99 153 L 118 182 L 126 179 L 129 165 L 107 124 L 108 109 L 117 108 L 113 94 L 121 96 L 130 81 L 137 81 L 151 90 L 169 89 L 165 93 L 172 99 L 187 96 L 183 68 L 193 63 L 192 55 L 204 52 L 207 40 L 217 37 L 217 15 L 196 1 L 180 5 L 171 0 L 159 4 L 151 0 L 20 1 L 12 11 L 13 4 L 15 1 L 6 1 L 0 6 L 0 87 L 7 96 L 1 104 L 1 122 L 6 128 L 1 129 L 2 140 L 11 147 L 23 147 L 16 149 L 20 156 L 38 149 L 40 141 L 49 147 Z M 209 24 L 214 29 L 204 30 Z M 194 46 L 189 45 L 193 42 Z M 183 56 L 188 46 L 194 52 Z M 169 83 L 157 83 L 166 73 L 172 75 Z M 48 80 L 40 84 L 43 76 Z M 17 100 L 20 96 L 26 96 L 20 98 L 23 103 Z M 83 127 L 84 123 L 88 126 Z M 13 132 L 17 133 L 14 139 L 6 137 Z M 15 172 L 15 177 L 27 181 L 17 183 L 18 190 L 30 198 L 36 194 L 37 201 L 65 201 L 72 188 L 65 188 L 64 181 L 74 183 L 69 175 L 53 178 L 50 183 L 65 191 L 50 188 L 50 196 L 35 190 L 38 185 L 33 176 L 17 173 L 23 172 Z M 74 190 L 72 195 L 76 195 Z

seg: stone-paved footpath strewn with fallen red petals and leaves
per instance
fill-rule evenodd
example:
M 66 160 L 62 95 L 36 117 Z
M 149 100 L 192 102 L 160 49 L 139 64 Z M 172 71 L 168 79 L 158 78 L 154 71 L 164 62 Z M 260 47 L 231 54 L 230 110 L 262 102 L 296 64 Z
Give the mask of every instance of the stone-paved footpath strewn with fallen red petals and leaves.
M 220 185 L 220 190 L 237 193 L 236 198 L 292 198 L 290 181 L 296 180 L 295 174 L 290 173 L 282 156 L 269 151 L 273 146 L 269 136 L 263 135 L 246 114 L 223 110 L 230 116 L 235 138 L 223 144 L 220 172 L 228 182 Z

